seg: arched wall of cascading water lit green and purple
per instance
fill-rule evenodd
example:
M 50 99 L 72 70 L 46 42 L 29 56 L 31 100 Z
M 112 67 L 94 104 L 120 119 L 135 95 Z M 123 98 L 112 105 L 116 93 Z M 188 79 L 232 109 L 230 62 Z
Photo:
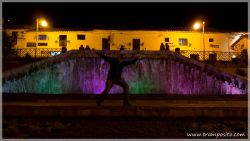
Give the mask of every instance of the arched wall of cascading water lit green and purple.
M 3 93 L 100 94 L 109 64 L 99 57 L 75 57 L 6 79 Z M 240 86 L 209 75 L 195 65 L 171 58 L 144 58 L 124 68 L 131 94 L 246 94 Z M 121 93 L 114 85 L 110 93 Z

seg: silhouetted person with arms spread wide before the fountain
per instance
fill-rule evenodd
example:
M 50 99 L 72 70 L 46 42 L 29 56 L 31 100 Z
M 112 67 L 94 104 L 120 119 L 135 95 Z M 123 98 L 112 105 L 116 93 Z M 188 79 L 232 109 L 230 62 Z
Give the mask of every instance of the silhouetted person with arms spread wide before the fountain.
M 110 89 L 114 84 L 117 84 L 123 88 L 123 105 L 130 106 L 128 99 L 129 86 L 128 84 L 121 78 L 122 70 L 125 66 L 135 63 L 139 58 L 135 58 L 132 60 L 125 61 L 122 54 L 117 53 L 114 58 L 107 57 L 101 53 L 97 52 L 97 55 L 103 58 L 105 61 L 110 63 L 108 78 L 106 80 L 106 87 L 104 91 L 101 93 L 100 97 L 97 100 L 97 105 L 100 106 L 103 102 L 105 96 L 108 95 Z

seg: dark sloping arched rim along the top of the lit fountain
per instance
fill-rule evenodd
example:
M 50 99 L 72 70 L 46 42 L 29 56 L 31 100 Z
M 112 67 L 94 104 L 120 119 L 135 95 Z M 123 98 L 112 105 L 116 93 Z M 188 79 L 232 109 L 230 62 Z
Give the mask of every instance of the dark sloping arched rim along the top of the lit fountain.
M 109 51 L 109 53 L 113 53 L 113 51 Z M 228 84 L 233 85 L 234 87 L 237 87 L 239 89 L 243 89 L 243 90 L 247 90 L 247 84 L 248 84 L 248 80 L 242 76 L 236 75 L 236 74 L 231 74 L 228 72 L 225 72 L 219 68 L 216 68 L 212 65 L 209 64 L 204 64 L 201 63 L 197 60 L 191 59 L 191 58 L 187 58 L 185 56 L 182 56 L 176 52 L 171 52 L 171 51 L 166 51 L 166 52 L 159 52 L 159 51 L 155 51 L 155 52 L 148 52 L 148 51 L 135 51 L 135 52 L 131 52 L 131 51 L 125 51 L 125 54 L 134 54 L 134 53 L 140 53 L 142 55 L 148 55 L 150 53 L 154 53 L 154 55 L 158 54 L 158 59 L 165 59 L 165 58 L 170 58 L 173 59 L 177 62 L 181 62 L 181 63 L 187 63 L 193 67 L 195 67 L 196 69 L 200 69 L 203 72 L 205 72 L 206 74 L 215 77 L 216 79 L 220 79 L 222 81 L 226 81 Z M 160 56 L 162 55 L 162 56 Z M 93 52 L 91 51 L 87 51 L 87 52 L 81 52 L 81 51 L 69 51 L 67 53 L 63 53 L 60 54 L 58 56 L 54 56 L 45 60 L 41 60 L 35 63 L 31 63 L 22 67 L 19 67 L 15 70 L 11 70 L 11 71 L 7 71 L 4 72 L 2 75 L 2 80 L 3 80 L 3 84 L 6 80 L 11 80 L 11 79 L 18 79 L 19 77 L 22 77 L 22 75 L 28 74 L 29 72 L 35 72 L 37 68 L 40 68 L 41 66 L 45 67 L 46 66 L 50 66 L 56 63 L 60 63 L 62 61 L 66 61 L 68 59 L 72 59 L 72 58 L 82 58 L 82 57 L 91 57 L 91 58 L 95 58 L 98 57 L 96 54 L 93 54 Z M 150 57 L 149 57 L 150 58 Z

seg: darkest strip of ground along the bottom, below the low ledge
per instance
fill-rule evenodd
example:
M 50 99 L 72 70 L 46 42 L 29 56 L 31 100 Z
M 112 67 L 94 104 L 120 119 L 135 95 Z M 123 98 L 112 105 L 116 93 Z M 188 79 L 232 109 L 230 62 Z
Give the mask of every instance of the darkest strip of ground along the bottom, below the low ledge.
M 8 118 L 3 119 L 3 138 L 246 139 L 247 119 Z

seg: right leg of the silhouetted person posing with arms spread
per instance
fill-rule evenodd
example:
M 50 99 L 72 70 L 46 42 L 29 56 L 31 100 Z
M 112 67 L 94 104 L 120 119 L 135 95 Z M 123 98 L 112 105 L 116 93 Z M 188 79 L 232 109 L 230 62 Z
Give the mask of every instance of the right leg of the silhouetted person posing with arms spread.
M 129 87 L 128 84 L 123 79 L 118 79 L 115 83 L 123 88 L 123 105 L 130 106 L 129 104 Z

